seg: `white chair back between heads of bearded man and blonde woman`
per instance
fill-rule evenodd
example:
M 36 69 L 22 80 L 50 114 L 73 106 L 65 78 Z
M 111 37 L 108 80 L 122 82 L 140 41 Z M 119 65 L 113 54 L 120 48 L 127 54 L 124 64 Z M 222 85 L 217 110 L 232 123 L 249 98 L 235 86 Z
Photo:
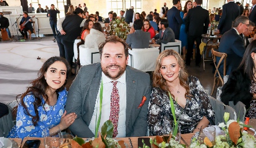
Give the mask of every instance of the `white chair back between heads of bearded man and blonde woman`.
M 158 47 L 148 49 L 129 49 L 128 65 L 143 72 L 152 72 L 156 68 L 156 58 L 159 56 Z

